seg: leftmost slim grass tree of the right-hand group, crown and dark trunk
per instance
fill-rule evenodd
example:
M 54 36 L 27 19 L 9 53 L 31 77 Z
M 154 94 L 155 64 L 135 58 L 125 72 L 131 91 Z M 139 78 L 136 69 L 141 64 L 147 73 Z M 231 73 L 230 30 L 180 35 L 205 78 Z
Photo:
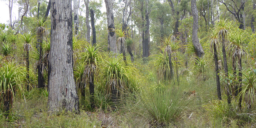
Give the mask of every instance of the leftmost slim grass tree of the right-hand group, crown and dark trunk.
M 221 92 L 220 92 L 220 76 L 219 76 L 219 68 L 218 68 L 218 53 L 217 53 L 217 45 L 219 43 L 218 40 L 218 31 L 212 29 L 212 33 L 210 38 L 208 39 L 210 42 L 211 48 L 214 50 L 214 63 L 215 63 L 215 72 L 216 72 L 216 85 L 217 85 L 217 95 L 218 99 L 221 100 Z

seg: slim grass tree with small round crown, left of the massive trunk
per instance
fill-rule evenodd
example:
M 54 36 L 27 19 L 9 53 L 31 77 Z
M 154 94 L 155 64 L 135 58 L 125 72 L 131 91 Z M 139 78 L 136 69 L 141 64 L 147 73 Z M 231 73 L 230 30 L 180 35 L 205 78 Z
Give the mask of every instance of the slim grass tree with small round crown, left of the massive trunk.
M 27 90 L 29 90 L 29 51 L 30 49 L 32 49 L 32 41 L 34 39 L 34 36 L 32 36 L 31 34 L 28 34 L 28 33 L 25 33 L 23 35 L 21 35 L 21 38 L 22 40 L 24 41 L 24 44 L 23 44 L 23 49 L 24 51 L 26 51 L 26 79 L 27 79 L 27 83 L 26 83 L 26 86 L 27 86 Z

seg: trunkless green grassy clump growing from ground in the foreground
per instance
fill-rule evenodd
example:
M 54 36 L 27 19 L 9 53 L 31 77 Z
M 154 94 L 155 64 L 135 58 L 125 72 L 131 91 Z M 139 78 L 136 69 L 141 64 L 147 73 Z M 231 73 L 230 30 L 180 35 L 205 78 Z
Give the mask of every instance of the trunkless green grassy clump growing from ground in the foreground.
M 181 89 L 158 85 L 153 89 L 145 88 L 142 94 L 136 97 L 137 102 L 131 111 L 153 126 L 168 126 L 185 115 L 189 106 L 192 106 L 192 100 L 194 98 L 184 96 Z

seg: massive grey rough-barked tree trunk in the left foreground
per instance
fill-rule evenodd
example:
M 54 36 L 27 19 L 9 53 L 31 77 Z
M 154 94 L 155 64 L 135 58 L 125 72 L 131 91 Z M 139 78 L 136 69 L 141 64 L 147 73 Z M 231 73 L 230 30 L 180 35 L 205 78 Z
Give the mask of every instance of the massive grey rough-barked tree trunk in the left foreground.
M 79 112 L 73 73 L 72 1 L 52 0 L 48 110 Z

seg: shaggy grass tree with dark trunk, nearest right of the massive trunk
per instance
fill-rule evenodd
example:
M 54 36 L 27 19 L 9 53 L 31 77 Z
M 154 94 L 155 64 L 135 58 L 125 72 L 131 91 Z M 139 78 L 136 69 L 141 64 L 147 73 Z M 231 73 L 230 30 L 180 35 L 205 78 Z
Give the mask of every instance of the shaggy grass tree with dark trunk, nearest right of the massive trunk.
M 100 60 L 98 50 L 99 48 L 97 48 L 96 45 L 88 45 L 84 56 L 82 56 L 85 64 L 83 80 L 89 83 L 90 104 L 92 109 L 94 109 L 94 76 L 97 75 L 98 62 Z

